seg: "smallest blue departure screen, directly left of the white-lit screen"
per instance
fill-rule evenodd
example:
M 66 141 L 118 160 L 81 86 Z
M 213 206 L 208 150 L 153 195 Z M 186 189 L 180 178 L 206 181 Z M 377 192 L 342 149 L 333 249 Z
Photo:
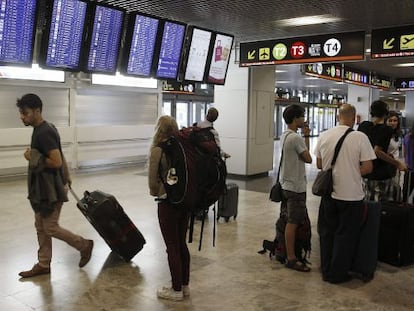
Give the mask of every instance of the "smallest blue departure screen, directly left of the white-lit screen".
M 184 32 L 184 25 L 165 22 L 158 58 L 157 78 L 177 78 Z

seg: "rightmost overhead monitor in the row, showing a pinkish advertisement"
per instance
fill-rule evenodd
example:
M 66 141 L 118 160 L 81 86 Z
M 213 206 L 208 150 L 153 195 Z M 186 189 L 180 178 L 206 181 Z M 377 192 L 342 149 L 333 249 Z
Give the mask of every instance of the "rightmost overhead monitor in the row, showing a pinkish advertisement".
M 216 34 L 208 67 L 208 74 L 205 79 L 207 83 L 224 85 L 230 62 L 233 40 L 234 37 L 232 35 L 222 33 Z

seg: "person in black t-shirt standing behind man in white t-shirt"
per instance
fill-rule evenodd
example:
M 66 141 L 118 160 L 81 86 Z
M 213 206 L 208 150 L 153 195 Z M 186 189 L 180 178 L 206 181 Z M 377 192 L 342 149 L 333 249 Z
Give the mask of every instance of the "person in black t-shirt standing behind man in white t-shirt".
M 363 176 L 365 198 L 371 201 L 389 201 L 393 200 L 395 168 L 405 171 L 407 166 L 387 153 L 393 134 L 392 128 L 385 124 L 389 112 L 388 105 L 381 100 L 376 100 L 371 104 L 370 111 L 373 121 L 364 121 L 358 127 L 358 131 L 368 136 L 377 156 L 372 172 Z

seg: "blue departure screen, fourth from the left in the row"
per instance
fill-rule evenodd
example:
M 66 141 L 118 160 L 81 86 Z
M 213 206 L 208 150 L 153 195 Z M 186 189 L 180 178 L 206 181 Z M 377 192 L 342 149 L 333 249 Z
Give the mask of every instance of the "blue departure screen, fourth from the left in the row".
M 127 73 L 141 76 L 151 74 L 158 19 L 136 15 Z

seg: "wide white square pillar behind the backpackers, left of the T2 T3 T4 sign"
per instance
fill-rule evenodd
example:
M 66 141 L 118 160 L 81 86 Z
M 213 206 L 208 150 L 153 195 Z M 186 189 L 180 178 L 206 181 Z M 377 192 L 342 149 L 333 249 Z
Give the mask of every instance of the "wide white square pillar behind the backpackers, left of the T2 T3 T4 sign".
M 274 66 L 240 68 L 232 51 L 226 84 L 216 86 L 214 123 L 222 148 L 231 155 L 230 174 L 251 176 L 273 167 Z

